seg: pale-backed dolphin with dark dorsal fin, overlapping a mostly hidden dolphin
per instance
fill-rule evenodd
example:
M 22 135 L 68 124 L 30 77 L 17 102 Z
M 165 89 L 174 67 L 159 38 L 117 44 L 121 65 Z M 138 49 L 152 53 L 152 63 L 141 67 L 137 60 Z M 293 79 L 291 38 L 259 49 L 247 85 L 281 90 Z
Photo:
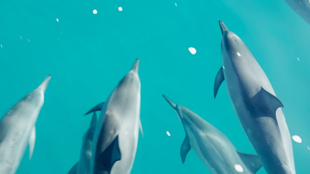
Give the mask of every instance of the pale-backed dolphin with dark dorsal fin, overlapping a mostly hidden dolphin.
M 91 174 L 131 172 L 138 146 L 139 129 L 143 136 L 138 71 L 139 59 L 136 59 L 131 70 L 102 104 L 93 138 Z M 97 111 L 98 108 L 100 107 L 97 105 L 91 111 Z

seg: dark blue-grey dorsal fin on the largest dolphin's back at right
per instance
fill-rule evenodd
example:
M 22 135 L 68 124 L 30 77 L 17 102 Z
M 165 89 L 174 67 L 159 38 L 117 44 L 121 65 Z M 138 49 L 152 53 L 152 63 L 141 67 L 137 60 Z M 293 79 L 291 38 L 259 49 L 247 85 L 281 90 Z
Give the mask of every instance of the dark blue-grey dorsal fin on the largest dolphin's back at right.
M 279 107 L 283 107 L 282 102 L 274 95 L 261 87 L 260 91 L 250 98 L 255 108 L 253 111 L 257 115 L 270 115 L 275 117 L 275 113 Z

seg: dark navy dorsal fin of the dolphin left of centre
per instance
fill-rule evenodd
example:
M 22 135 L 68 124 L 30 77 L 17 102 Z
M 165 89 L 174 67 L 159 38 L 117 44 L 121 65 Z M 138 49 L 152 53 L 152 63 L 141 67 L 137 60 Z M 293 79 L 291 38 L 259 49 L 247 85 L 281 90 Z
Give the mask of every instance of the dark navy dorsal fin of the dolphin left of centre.
M 111 172 L 111 169 L 115 162 L 121 160 L 121 150 L 118 144 L 118 135 L 112 141 L 112 143 L 96 157 L 100 166 L 95 166 L 99 171 Z

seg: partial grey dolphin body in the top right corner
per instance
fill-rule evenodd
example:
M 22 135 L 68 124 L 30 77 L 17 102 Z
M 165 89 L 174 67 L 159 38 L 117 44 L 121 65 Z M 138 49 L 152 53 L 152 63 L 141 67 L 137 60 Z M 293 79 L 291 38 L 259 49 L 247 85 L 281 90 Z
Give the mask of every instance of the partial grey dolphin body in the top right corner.
M 310 1 L 309 0 L 284 0 L 292 10 L 310 24 Z

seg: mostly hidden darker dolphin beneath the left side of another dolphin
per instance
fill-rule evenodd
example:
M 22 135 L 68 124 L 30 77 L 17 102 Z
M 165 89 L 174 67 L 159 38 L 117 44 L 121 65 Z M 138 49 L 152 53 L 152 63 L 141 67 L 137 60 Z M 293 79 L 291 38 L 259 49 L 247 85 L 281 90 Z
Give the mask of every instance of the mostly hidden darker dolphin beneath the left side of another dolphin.
M 91 148 L 93 136 L 97 124 L 97 114 L 94 112 L 89 128 L 83 135 L 80 160 L 76 163 L 68 174 L 90 174 L 91 172 Z

